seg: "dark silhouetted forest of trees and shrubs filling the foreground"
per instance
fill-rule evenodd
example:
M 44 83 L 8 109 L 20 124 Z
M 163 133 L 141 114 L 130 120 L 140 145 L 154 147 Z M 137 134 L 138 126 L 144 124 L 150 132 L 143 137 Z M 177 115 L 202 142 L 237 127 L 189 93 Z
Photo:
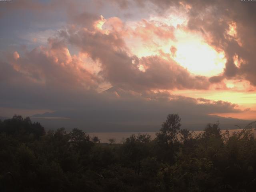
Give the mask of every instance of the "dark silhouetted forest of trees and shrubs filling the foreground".
M 216 122 L 194 134 L 168 114 L 155 139 L 138 134 L 115 144 L 15 115 L 0 121 L 0 191 L 255 191 L 254 123 L 222 134 Z

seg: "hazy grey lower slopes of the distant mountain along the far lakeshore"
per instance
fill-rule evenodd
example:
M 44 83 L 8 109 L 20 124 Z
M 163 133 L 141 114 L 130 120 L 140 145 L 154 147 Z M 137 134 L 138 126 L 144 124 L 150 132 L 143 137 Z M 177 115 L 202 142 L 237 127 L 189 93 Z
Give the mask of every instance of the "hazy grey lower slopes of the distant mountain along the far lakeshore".
M 118 113 L 118 112 L 116 112 Z M 128 114 L 126 114 L 128 115 Z M 86 132 L 149 132 L 158 131 L 166 118 L 150 120 L 136 119 L 136 116 L 129 118 L 115 119 L 115 114 L 98 111 L 61 111 L 47 112 L 31 116 L 32 121 L 40 122 L 46 129 L 65 127 L 72 129 L 78 127 Z M 220 122 L 221 129 L 237 129 L 246 126 L 250 121 L 235 118 L 225 118 L 216 115 L 182 117 L 182 127 L 188 130 L 203 130 L 208 123 Z

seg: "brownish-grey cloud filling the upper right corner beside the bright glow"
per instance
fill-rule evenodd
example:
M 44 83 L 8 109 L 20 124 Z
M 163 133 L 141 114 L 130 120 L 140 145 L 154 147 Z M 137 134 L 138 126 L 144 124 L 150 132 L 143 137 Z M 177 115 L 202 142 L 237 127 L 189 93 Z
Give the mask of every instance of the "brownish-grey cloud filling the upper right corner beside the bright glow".
M 256 70 L 256 59 L 254 56 L 256 48 L 254 43 L 256 41 L 256 3 L 254 1 L 130 0 L 129 2 L 131 5 L 131 2 L 136 2 L 137 5 L 145 9 L 148 9 L 145 6 L 146 4 L 154 4 L 155 7 L 153 9 L 162 15 L 170 7 L 178 9 L 189 5 L 188 29 L 200 32 L 216 50 L 224 50 L 225 52 L 227 62 L 224 77 L 245 79 L 256 86 L 256 76 L 254 75 Z M 127 1 L 126 4 L 128 4 Z M 126 6 L 126 8 L 129 7 Z M 236 24 L 235 36 L 227 34 L 232 22 Z M 239 68 L 234 64 L 233 60 L 236 54 L 246 61 Z M 211 80 L 214 79 L 216 78 Z M 212 82 L 215 83 L 216 81 Z

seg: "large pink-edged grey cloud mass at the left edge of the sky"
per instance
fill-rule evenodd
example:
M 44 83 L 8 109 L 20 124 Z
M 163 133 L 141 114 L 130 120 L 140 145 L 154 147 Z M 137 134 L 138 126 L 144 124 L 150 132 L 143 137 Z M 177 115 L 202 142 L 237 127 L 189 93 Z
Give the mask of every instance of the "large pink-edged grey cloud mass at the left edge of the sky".
M 71 56 L 65 43 L 55 39 L 49 39 L 46 47 L 22 54 L 14 52 L 8 62 L 1 62 L 0 105 L 53 110 L 68 107 L 67 98 L 72 98 L 70 104 L 73 99 L 78 102 L 82 100 L 79 94 L 96 92 L 102 83 L 96 73 L 86 68 L 87 62 L 92 61 Z

